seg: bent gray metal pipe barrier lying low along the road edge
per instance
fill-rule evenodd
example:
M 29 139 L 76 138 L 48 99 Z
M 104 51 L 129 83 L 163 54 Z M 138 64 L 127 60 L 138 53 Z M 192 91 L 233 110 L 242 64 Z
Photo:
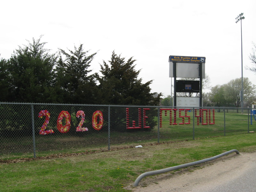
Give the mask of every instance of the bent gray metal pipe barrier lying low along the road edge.
M 236 149 L 232 149 L 230 151 L 227 151 L 225 153 L 221 153 L 220 155 L 216 155 L 216 156 L 213 156 L 213 157 L 210 157 L 210 158 L 207 158 L 207 159 L 203 159 L 203 160 L 199 160 L 199 161 L 195 161 L 195 162 L 191 162 L 191 163 L 186 163 L 186 164 L 182 164 L 182 165 L 177 165 L 177 166 L 174 166 L 174 167 L 169 167 L 169 168 L 160 169 L 160 170 L 156 170 L 156 171 L 149 171 L 149 172 L 142 173 L 134 181 L 133 186 L 137 187 L 139 185 L 140 180 L 142 180 L 144 177 L 147 177 L 147 176 L 150 176 L 150 175 L 157 175 L 157 174 L 160 174 L 160 173 L 166 173 L 166 172 L 173 171 L 173 170 L 176 170 L 176 169 L 181 169 L 181 168 L 190 167 L 190 166 L 193 166 L 193 165 L 205 163 L 205 162 L 212 161 L 214 159 L 220 158 L 222 156 L 228 155 L 228 154 L 233 153 L 233 152 L 236 152 L 236 154 L 239 154 L 239 151 L 237 151 Z

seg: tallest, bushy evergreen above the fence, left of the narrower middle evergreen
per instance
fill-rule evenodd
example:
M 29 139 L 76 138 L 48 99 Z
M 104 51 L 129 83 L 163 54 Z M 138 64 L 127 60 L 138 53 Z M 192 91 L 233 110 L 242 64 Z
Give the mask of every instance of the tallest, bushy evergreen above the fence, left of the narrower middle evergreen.
M 10 89 L 12 101 L 16 102 L 55 102 L 53 84 L 56 64 L 55 54 L 44 49 L 41 37 L 13 52 L 10 59 Z

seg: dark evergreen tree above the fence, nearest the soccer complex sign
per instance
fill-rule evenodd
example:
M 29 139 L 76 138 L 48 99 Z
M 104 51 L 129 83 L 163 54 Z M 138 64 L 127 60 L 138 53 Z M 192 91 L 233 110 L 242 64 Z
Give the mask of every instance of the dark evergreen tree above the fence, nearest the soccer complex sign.
M 158 105 L 161 93 L 154 97 L 150 93 L 151 81 L 142 83 L 138 78 L 140 70 L 135 70 L 135 62 L 131 57 L 127 61 L 121 55 L 112 52 L 109 65 L 103 60 L 100 65 L 101 77 L 98 77 L 104 104 L 116 105 Z

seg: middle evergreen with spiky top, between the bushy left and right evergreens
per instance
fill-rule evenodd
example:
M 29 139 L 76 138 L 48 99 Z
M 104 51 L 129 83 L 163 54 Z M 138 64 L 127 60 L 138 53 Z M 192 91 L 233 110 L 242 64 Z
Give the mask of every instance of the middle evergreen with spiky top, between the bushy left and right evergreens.
M 93 104 L 97 102 L 99 96 L 96 85 L 95 74 L 89 75 L 89 70 L 94 56 L 88 55 L 89 51 L 84 51 L 83 44 L 69 53 L 60 49 L 60 54 L 65 57 L 63 61 L 61 56 L 56 67 L 56 87 L 59 95 L 59 102 L 64 103 L 83 103 Z

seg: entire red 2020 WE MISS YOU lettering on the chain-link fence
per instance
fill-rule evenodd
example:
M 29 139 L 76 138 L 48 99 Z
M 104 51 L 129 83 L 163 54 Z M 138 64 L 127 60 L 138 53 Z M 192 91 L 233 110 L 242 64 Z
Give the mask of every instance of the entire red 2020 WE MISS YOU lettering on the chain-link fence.
M 132 126 L 130 126 L 130 116 L 129 116 L 129 108 L 126 108 L 126 129 L 141 129 L 142 124 L 143 128 L 147 129 L 150 128 L 150 126 L 147 126 L 147 118 L 146 116 L 146 111 L 150 110 L 149 108 L 138 108 L 138 125 L 136 126 L 136 121 L 132 121 Z M 167 111 L 169 111 L 169 124 L 170 125 L 177 125 L 177 118 L 182 118 L 181 121 L 182 123 L 179 124 L 190 124 L 190 116 L 188 115 L 188 112 L 191 109 L 160 109 L 160 119 L 159 119 L 159 125 L 162 127 L 162 120 L 163 120 L 163 111 L 164 111 L 164 116 L 167 116 Z M 177 116 L 178 113 L 178 116 Z M 184 113 L 184 115 L 182 115 Z M 205 114 L 205 115 L 204 115 Z M 49 124 L 50 120 L 50 113 L 47 110 L 42 110 L 39 112 L 38 117 L 43 118 L 45 116 L 45 121 L 39 131 L 39 134 L 41 135 L 46 135 L 46 134 L 52 134 L 54 131 L 51 130 L 46 130 L 47 125 Z M 78 126 L 76 127 L 77 132 L 84 132 L 88 131 L 87 127 L 82 127 L 84 124 L 85 120 L 85 114 L 84 111 L 80 110 L 76 112 L 76 117 L 79 118 L 81 116 L 81 121 L 79 122 Z M 211 117 L 212 116 L 212 117 Z M 98 122 L 98 117 L 99 117 L 99 122 Z M 197 125 L 199 125 L 199 122 L 202 125 L 207 125 L 207 124 L 215 124 L 215 111 L 214 109 L 195 109 L 195 117 L 197 118 Z M 62 120 L 65 118 L 66 124 L 62 124 Z M 187 118 L 187 122 L 185 122 L 185 118 Z M 57 120 L 57 129 L 61 133 L 67 133 L 70 129 L 70 121 L 71 121 L 71 116 L 68 113 L 68 111 L 61 111 L 58 120 Z M 103 114 L 101 111 L 97 110 L 92 114 L 92 127 L 95 130 L 100 130 L 103 126 Z

